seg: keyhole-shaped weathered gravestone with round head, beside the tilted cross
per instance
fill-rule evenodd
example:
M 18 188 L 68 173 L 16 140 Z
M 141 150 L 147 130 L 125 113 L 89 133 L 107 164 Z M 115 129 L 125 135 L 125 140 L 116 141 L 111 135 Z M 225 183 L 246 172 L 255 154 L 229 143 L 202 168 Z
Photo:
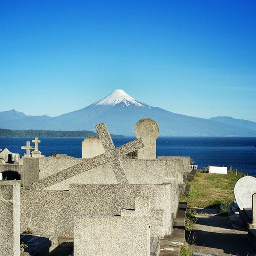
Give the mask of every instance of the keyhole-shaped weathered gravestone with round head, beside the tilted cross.
M 156 138 L 159 127 L 151 118 L 139 120 L 134 128 L 136 138 L 142 138 L 144 148 L 138 150 L 138 159 L 156 159 Z

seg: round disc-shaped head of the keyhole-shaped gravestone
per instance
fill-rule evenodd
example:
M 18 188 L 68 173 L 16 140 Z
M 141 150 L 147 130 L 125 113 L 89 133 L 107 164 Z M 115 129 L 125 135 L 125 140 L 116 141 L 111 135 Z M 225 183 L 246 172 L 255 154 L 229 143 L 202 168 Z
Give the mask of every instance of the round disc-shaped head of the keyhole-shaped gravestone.
M 136 138 L 152 137 L 157 138 L 159 135 L 159 127 L 155 120 L 151 118 L 140 119 L 134 127 Z

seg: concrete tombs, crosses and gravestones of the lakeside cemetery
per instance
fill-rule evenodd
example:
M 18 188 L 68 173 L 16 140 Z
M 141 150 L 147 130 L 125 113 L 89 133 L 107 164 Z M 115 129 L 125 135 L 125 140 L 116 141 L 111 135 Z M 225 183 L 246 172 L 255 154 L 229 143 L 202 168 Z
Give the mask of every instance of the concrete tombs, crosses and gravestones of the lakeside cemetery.
M 1 256 L 180 254 L 187 208 L 181 199 L 195 175 L 190 158 L 156 158 L 159 128 L 150 118 L 136 123 L 136 140 L 118 148 L 106 124 L 95 128 L 98 137 L 82 142 L 82 158 L 45 157 L 38 138 L 21 146 L 21 158 L 4 154 L 1 172 L 20 179 L 0 180 Z M 256 178 L 239 179 L 234 195 L 230 212 L 256 244 Z

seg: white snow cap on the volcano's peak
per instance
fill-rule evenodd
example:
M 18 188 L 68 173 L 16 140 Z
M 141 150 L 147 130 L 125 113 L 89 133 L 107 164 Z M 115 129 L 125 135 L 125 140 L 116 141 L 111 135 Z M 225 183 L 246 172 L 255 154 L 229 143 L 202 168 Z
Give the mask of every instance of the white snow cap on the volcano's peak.
M 143 107 L 143 105 L 140 104 L 140 102 L 134 100 L 134 98 L 132 98 L 130 95 L 128 95 L 126 92 L 124 92 L 121 89 L 117 89 L 111 94 L 109 94 L 106 98 L 99 100 L 98 102 L 96 102 L 96 105 L 114 106 L 120 102 L 124 102 L 124 104 L 126 104 L 127 107 L 130 106 L 130 104 Z

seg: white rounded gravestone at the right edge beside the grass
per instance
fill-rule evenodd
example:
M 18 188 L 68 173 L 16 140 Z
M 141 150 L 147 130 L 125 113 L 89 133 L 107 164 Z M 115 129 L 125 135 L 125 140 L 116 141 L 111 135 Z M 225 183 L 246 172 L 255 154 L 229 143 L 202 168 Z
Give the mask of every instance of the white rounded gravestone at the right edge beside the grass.
M 245 176 L 236 182 L 234 196 L 240 210 L 252 208 L 252 195 L 254 193 L 256 193 L 256 178 Z

